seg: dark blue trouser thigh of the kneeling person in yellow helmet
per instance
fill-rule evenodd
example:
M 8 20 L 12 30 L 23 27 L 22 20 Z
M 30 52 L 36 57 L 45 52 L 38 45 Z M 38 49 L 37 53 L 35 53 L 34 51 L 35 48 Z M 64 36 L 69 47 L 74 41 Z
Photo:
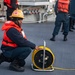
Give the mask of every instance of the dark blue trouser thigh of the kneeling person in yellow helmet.
M 26 59 L 28 55 L 31 53 L 31 48 L 29 47 L 18 47 L 13 50 L 4 51 L 3 55 L 5 57 L 11 58 L 13 60 L 15 59 Z

